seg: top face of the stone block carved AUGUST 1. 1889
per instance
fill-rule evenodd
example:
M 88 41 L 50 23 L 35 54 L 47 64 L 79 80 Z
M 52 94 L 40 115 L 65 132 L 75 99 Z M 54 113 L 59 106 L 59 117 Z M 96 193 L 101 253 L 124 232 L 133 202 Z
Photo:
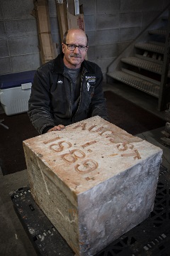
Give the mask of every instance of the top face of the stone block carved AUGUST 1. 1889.
M 71 124 L 62 131 L 28 139 L 23 144 L 50 168 L 47 176 L 52 182 L 60 178 L 61 189 L 64 183 L 77 196 L 142 164 L 154 154 L 162 154 L 159 147 L 98 116 Z

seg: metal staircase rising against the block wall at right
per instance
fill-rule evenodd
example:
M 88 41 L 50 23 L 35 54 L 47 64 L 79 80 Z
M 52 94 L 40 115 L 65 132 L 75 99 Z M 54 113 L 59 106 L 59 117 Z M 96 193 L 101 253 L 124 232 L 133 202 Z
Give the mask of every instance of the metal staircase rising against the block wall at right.
M 159 111 L 170 102 L 170 11 L 164 14 L 108 66 L 106 74 L 110 83 L 118 80 L 156 97 Z

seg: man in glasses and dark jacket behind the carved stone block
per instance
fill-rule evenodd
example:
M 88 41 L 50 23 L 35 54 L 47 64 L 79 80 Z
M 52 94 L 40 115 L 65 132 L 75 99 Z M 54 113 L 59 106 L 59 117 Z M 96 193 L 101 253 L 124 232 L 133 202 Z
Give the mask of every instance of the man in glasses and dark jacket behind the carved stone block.
M 40 134 L 99 115 L 108 119 L 101 68 L 85 60 L 88 38 L 81 29 L 64 34 L 62 53 L 35 73 L 28 115 Z

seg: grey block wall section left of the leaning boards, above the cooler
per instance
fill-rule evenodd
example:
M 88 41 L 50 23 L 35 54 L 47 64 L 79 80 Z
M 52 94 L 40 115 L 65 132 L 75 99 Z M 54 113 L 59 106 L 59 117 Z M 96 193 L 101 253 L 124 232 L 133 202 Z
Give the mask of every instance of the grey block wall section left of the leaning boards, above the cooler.
M 35 70 L 40 65 L 32 0 L 0 1 L 0 75 Z

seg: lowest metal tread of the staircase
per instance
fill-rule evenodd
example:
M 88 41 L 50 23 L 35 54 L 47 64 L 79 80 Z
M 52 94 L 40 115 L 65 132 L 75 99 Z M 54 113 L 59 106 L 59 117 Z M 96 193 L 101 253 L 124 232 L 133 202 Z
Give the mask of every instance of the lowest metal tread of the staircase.
M 141 90 L 142 92 L 146 92 L 147 94 L 157 98 L 159 97 L 159 85 L 154 84 L 154 82 L 150 80 L 144 80 L 142 75 L 140 78 L 140 75 L 138 74 L 135 76 L 119 70 L 114 71 L 112 73 L 108 73 L 108 75 L 111 78 L 123 82 L 126 85 L 135 87 L 136 89 Z

